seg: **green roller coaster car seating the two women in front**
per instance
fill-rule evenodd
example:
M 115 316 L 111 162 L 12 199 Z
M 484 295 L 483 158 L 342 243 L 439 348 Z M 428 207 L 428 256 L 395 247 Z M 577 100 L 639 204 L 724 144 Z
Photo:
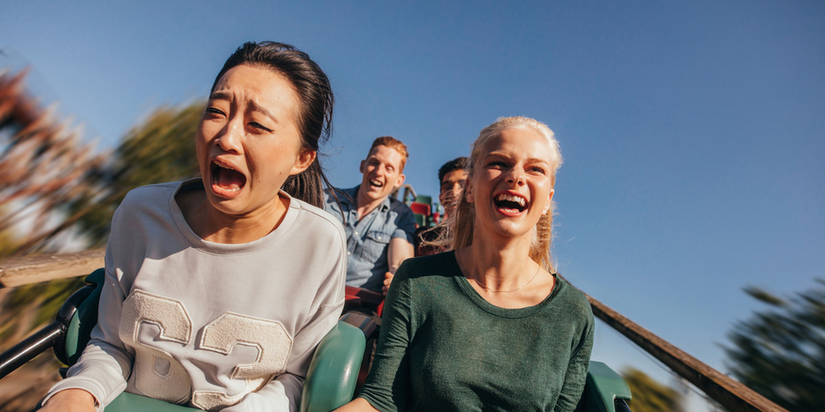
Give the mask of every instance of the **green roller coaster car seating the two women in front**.
M 46 349 L 52 348 L 60 362 L 71 365 L 78 361 L 86 347 L 92 328 L 97 323 L 97 302 L 103 284 L 103 269 L 88 275 L 88 285 L 68 298 L 54 322 L 35 332 L 29 338 L 0 354 L 0 378 L 19 368 Z M 361 307 L 375 308 L 381 302 L 380 294 L 347 287 L 345 313 L 338 324 L 318 344 L 318 349 L 304 381 L 301 412 L 326 412 L 352 399 L 359 383 L 367 339 L 375 339 L 377 325 L 370 316 L 358 313 Z M 61 368 L 65 377 L 67 368 Z M 366 371 L 361 372 L 361 381 Z M 622 412 L 629 409 L 625 400 L 630 391 L 625 381 L 604 363 L 591 362 L 587 384 L 577 412 Z M 195 409 L 173 405 L 163 400 L 123 392 L 106 412 L 185 412 Z

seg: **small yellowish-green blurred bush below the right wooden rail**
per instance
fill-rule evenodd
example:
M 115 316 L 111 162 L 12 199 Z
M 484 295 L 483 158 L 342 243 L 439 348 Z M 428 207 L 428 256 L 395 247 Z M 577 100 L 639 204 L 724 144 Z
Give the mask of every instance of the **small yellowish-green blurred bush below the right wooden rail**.
M 657 382 L 636 368 L 627 368 L 621 375 L 633 395 L 633 400 L 629 402 L 633 412 L 681 410 L 681 394 L 672 387 Z

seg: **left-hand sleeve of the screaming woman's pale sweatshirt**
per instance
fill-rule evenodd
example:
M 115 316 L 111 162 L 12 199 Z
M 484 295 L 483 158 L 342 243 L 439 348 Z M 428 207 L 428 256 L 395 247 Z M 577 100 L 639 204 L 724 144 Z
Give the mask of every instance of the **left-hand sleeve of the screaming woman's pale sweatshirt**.
M 112 232 L 116 233 L 115 230 L 113 225 Z M 52 386 L 42 404 L 64 389 L 82 389 L 95 397 L 100 411 L 126 388 L 134 353 L 118 336 L 125 291 L 113 273 L 114 267 L 110 240 L 106 248 L 106 278 L 97 310 L 97 325 L 92 329 L 91 339 L 78 362 L 68 368 L 66 379 Z

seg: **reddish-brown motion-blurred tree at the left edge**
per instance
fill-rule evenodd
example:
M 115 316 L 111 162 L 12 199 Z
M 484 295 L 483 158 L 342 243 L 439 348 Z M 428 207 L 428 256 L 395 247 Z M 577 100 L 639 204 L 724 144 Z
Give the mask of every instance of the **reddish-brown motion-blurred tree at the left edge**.
M 46 249 L 54 210 L 87 190 L 86 176 L 103 160 L 82 143 L 79 127 L 26 91 L 27 70 L 0 68 L 0 232 L 21 227 L 7 254 Z

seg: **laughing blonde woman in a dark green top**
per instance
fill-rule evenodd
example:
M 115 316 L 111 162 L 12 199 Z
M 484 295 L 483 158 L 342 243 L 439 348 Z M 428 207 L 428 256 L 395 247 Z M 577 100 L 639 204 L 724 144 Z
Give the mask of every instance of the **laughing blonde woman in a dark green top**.
M 549 253 L 561 162 L 534 119 L 481 131 L 450 228 L 455 250 L 398 269 L 370 377 L 341 410 L 575 409 L 593 316 Z

